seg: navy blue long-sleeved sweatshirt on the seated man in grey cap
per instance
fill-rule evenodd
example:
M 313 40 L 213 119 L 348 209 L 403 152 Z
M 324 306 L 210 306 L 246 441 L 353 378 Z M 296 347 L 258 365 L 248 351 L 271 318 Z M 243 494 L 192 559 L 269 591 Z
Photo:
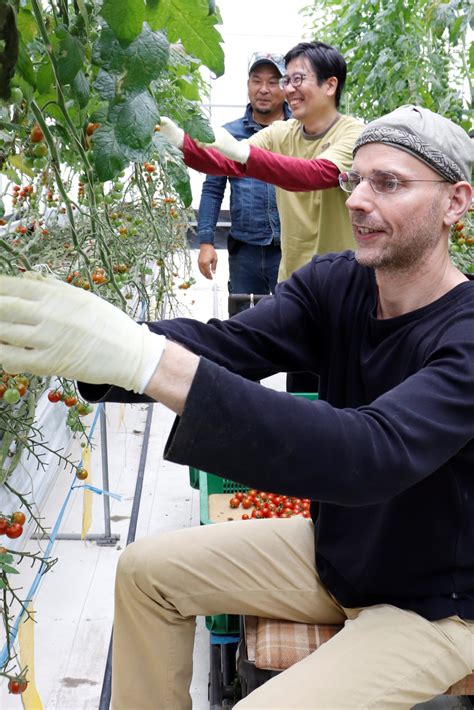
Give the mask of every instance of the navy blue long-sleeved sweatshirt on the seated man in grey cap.
M 345 252 L 229 321 L 151 324 L 203 356 L 165 456 L 317 501 L 316 565 L 343 606 L 474 619 L 474 282 L 396 318 L 376 303 Z M 302 370 L 319 401 L 251 381 Z

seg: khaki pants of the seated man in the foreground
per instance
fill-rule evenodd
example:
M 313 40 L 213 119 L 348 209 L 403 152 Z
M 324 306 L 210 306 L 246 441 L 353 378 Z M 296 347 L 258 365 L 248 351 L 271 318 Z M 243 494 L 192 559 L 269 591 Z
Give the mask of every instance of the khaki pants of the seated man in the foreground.
M 314 566 L 310 520 L 219 523 L 144 538 L 119 562 L 113 710 L 188 710 L 195 616 L 345 623 L 236 708 L 402 710 L 474 667 L 474 622 L 429 622 L 389 605 L 345 609 Z

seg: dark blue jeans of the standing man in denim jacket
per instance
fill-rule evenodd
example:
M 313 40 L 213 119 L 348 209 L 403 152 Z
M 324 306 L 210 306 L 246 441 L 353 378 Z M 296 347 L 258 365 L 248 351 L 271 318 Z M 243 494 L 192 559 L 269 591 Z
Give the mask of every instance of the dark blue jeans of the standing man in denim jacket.
M 229 293 L 273 293 L 278 278 L 279 245 L 256 246 L 228 238 Z

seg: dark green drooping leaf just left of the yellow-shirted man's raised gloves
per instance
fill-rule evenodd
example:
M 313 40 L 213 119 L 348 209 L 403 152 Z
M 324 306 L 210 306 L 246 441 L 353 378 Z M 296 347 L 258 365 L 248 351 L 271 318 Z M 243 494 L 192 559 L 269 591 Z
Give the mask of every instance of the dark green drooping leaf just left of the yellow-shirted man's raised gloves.
M 123 153 L 131 160 L 142 160 L 151 147 L 159 119 L 154 98 L 142 92 L 122 104 L 115 116 L 115 135 Z

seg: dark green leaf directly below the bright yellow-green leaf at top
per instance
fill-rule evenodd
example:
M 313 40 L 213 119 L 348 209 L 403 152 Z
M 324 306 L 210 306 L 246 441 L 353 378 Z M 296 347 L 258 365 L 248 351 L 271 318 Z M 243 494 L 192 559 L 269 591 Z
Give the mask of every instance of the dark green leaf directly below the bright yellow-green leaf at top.
M 127 47 L 124 56 L 124 89 L 144 89 L 166 69 L 169 44 L 163 32 L 152 32 L 145 25 Z

